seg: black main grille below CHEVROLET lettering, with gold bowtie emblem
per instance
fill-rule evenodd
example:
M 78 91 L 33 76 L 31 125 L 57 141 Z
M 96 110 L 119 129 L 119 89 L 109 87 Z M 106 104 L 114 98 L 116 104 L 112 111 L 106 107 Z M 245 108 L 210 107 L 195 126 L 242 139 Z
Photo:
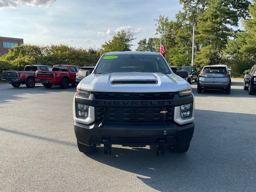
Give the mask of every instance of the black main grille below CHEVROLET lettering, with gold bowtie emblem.
M 160 113 L 165 111 L 166 113 Z M 97 122 L 172 122 L 172 106 L 96 106 L 95 117 Z

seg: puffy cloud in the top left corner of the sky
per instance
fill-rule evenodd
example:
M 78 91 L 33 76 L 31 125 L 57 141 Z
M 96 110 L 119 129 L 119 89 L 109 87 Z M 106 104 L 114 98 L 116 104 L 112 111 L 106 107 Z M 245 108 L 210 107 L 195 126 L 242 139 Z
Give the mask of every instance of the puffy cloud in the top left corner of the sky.
M 20 4 L 48 7 L 54 1 L 56 0 L 0 0 L 0 9 L 6 8 L 6 7 L 16 8 L 20 6 Z

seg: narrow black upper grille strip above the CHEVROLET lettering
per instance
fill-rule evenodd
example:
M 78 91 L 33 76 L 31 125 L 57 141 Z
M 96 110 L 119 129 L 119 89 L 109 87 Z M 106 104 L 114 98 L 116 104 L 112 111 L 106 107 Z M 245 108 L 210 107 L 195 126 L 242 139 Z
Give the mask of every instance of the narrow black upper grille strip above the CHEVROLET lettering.
M 94 92 L 96 99 L 104 100 L 170 100 L 174 93 L 108 93 Z

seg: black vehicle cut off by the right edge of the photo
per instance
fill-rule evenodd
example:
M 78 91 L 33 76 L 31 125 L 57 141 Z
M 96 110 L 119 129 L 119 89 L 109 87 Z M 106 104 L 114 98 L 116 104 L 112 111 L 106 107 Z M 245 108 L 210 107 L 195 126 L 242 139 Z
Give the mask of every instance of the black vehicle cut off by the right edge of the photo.
M 244 90 L 248 90 L 250 95 L 256 92 L 256 65 L 254 65 L 244 76 Z

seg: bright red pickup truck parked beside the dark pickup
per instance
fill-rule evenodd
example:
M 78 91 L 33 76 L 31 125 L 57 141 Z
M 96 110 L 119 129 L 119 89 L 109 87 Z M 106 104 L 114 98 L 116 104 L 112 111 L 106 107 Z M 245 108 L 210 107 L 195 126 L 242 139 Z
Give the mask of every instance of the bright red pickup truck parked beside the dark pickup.
M 37 71 L 36 82 L 42 83 L 45 88 L 51 88 L 55 84 L 66 89 L 69 84 L 76 86 L 76 73 L 78 71 L 78 66 L 54 65 L 52 71 Z

